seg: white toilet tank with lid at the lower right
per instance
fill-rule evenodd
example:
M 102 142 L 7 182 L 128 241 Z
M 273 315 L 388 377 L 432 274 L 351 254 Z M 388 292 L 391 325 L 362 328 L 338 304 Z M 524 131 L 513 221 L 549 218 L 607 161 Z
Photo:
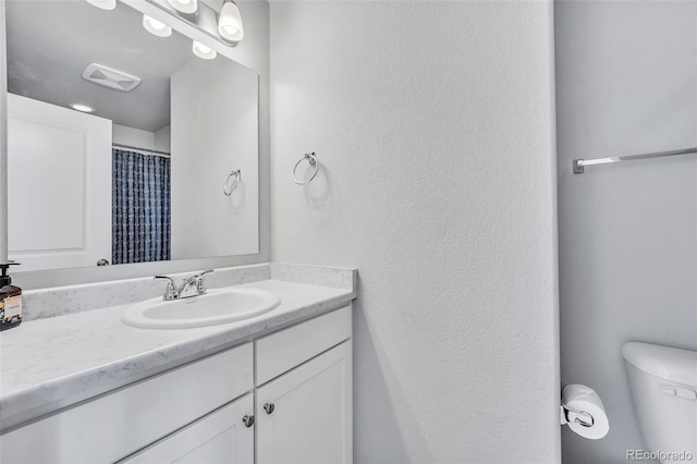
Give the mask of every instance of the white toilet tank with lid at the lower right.
M 697 352 L 627 342 L 622 355 L 646 451 L 697 460 Z

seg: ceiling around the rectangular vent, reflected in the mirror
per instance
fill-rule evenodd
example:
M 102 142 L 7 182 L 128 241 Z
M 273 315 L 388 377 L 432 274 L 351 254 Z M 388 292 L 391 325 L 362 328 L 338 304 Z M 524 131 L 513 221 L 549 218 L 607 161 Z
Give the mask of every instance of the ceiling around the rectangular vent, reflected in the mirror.
M 217 0 L 211 0 L 217 1 Z M 84 0 L 7 0 L 8 89 L 66 107 L 82 102 L 115 124 L 155 132 L 170 121 L 170 76 L 193 59 L 191 39 L 156 37 L 119 2 L 111 11 Z M 96 62 L 143 82 L 122 93 L 84 81 Z

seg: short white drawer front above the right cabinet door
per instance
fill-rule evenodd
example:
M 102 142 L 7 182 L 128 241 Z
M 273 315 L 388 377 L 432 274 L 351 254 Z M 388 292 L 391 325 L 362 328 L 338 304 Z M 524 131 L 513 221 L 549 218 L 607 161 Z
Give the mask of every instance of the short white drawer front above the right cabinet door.
M 351 338 L 351 305 L 255 341 L 260 386 Z

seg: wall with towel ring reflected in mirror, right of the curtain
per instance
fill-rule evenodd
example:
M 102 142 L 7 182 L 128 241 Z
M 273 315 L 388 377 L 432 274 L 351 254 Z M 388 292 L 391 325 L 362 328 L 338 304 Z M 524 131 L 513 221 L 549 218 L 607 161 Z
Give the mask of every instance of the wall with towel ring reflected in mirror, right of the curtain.
M 259 251 L 258 76 L 224 58 L 172 74 L 172 259 Z M 225 179 L 240 170 L 230 196 Z

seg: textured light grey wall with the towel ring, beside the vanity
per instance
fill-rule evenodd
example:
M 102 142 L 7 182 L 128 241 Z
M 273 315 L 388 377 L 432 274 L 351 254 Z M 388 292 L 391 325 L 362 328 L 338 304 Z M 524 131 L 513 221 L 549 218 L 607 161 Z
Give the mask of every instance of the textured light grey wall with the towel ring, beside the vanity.
M 356 462 L 559 459 L 552 69 L 549 2 L 271 2 L 274 259 L 359 269 Z

